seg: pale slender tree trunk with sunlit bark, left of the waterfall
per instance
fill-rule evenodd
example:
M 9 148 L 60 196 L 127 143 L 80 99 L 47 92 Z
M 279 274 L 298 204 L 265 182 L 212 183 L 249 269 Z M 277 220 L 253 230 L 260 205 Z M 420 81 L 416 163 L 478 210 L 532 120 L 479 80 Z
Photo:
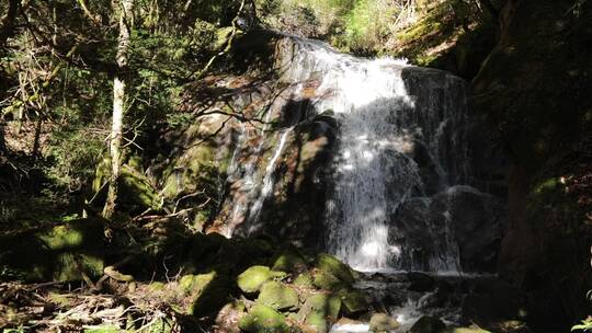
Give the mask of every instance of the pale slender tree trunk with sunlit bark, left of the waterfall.
M 111 177 L 109 180 L 109 191 L 103 217 L 110 219 L 115 211 L 117 200 L 117 182 L 122 164 L 122 139 L 123 119 L 126 102 L 127 85 L 127 62 L 129 51 L 129 39 L 132 34 L 134 0 L 119 0 L 119 37 L 117 45 L 117 67 L 118 70 L 113 80 L 113 118 L 110 134 L 109 153 L 111 157 Z

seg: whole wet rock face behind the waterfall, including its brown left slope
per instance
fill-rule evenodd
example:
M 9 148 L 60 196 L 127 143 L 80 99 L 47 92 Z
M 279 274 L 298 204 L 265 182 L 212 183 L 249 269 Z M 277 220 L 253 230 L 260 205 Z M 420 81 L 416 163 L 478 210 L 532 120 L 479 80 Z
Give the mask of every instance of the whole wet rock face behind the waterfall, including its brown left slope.
M 493 271 L 501 218 L 487 213 L 494 200 L 449 191 L 478 186 L 468 168 L 465 82 L 342 55 L 315 41 L 262 36 L 259 47 L 274 46 L 267 54 L 273 79 L 210 84 L 227 91 L 234 110 L 251 122 L 228 120 L 208 141 L 218 146 L 210 151 L 219 204 L 206 230 L 269 234 L 343 259 L 386 253 L 360 261 L 383 268 Z M 367 87 L 358 87 L 362 81 Z M 202 124 L 210 129 L 227 120 L 209 119 Z M 341 231 L 354 222 L 360 228 Z M 376 242 L 356 241 L 376 231 L 364 226 L 386 231 Z

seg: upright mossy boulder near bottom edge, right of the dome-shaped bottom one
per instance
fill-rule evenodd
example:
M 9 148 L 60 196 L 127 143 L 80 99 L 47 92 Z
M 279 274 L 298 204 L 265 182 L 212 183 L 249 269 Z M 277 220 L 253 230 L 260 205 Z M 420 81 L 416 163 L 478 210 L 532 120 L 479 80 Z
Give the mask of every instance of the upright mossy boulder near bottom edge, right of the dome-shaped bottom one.
M 305 324 L 314 326 L 317 332 L 329 332 L 332 323 L 337 321 L 341 309 L 339 296 L 329 294 L 309 295 L 296 318 Z

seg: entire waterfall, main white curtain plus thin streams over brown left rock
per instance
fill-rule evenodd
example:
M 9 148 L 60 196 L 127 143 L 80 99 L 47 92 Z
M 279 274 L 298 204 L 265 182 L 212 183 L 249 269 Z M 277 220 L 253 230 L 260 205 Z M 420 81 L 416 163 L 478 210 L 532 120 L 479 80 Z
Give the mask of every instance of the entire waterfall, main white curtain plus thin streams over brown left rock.
M 227 236 L 265 230 L 266 209 L 277 207 L 274 193 L 286 191 L 276 184 L 277 166 L 297 165 L 283 154 L 297 151 L 289 145 L 304 145 L 296 135 L 301 118 L 295 117 L 322 114 L 337 124 L 329 169 L 322 166 L 329 174 L 322 183 L 325 251 L 358 271 L 460 271 L 455 223 L 458 207 L 471 205 L 476 192 L 459 186 L 470 175 L 465 82 L 297 37 L 280 41 L 276 57 L 280 82 L 292 90 L 274 99 L 262 128 L 240 127 L 228 168 Z M 306 110 L 291 110 L 291 103 Z M 294 230 L 274 222 L 277 230 Z

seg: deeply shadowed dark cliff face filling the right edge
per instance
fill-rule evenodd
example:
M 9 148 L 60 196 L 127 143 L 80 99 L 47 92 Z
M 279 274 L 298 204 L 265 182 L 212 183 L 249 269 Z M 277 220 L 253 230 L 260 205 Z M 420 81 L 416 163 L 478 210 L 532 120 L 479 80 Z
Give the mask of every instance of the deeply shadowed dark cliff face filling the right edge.
M 500 27 L 471 87 L 511 161 L 500 274 L 573 319 L 592 286 L 592 1 L 509 1 Z

